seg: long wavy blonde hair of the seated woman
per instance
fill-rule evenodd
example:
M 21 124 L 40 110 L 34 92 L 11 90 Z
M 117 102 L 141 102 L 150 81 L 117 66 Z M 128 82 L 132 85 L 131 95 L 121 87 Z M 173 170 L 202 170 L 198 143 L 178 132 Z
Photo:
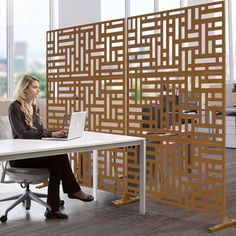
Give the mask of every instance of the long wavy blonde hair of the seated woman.
M 39 82 L 39 80 L 32 75 L 24 75 L 18 81 L 16 89 L 14 91 L 14 95 L 13 95 L 14 99 L 21 103 L 21 110 L 25 114 L 26 124 L 32 128 L 35 128 L 35 127 L 33 125 L 33 115 L 30 114 L 30 111 L 28 110 L 27 105 L 26 105 L 26 101 L 27 101 L 26 89 L 28 89 L 28 87 L 35 81 Z M 34 98 L 32 105 L 34 105 L 36 108 L 38 107 L 36 98 Z

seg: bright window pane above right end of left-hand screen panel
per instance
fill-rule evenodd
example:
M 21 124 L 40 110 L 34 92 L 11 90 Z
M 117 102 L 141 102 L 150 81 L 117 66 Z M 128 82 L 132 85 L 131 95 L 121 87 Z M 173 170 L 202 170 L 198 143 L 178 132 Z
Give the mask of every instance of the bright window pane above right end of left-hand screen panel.
M 101 20 L 125 17 L 125 0 L 101 0 Z

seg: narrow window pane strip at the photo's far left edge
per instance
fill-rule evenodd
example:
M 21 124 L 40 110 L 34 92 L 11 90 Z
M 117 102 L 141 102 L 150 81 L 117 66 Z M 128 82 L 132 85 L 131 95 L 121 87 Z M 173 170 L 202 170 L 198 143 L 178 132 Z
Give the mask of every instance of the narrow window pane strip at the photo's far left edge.
M 6 0 L 0 4 L 0 99 L 7 97 Z

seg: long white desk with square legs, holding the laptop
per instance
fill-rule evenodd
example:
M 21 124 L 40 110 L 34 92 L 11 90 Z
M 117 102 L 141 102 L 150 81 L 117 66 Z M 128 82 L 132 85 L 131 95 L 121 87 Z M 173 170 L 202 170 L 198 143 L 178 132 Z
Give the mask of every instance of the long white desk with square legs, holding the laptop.
M 97 151 L 109 148 L 138 146 L 140 158 L 140 204 L 139 212 L 145 214 L 146 145 L 145 139 L 125 135 L 86 131 L 83 137 L 70 141 L 41 139 L 0 140 L 0 161 L 53 156 L 71 152 L 93 151 L 93 195 L 97 200 L 98 159 Z

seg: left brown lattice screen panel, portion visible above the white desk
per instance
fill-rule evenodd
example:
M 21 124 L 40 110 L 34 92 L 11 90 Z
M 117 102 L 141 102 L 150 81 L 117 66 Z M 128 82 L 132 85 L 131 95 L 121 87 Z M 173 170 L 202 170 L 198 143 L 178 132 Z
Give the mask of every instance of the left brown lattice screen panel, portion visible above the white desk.
M 47 33 L 48 128 L 86 110 L 87 128 L 124 133 L 124 20 Z

